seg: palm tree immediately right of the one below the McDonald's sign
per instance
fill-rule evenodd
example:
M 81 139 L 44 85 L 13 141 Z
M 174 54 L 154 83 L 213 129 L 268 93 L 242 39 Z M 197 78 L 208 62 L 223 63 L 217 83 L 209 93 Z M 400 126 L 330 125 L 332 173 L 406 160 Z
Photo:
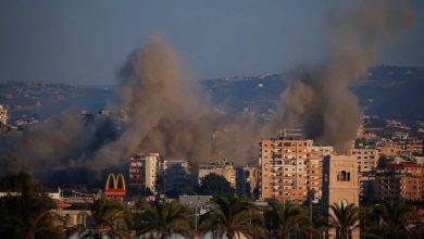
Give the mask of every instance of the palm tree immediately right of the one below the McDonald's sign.
M 194 229 L 189 222 L 192 219 L 192 212 L 178 201 L 158 200 L 140 209 L 137 216 L 137 234 L 155 235 L 161 239 L 167 239 L 172 235 L 190 237 Z

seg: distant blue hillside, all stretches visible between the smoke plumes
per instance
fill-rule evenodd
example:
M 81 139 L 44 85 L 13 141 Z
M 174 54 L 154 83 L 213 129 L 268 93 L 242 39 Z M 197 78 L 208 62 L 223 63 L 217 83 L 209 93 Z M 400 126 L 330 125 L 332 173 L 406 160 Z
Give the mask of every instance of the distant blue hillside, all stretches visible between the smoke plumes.
M 273 112 L 288 75 L 227 77 L 201 80 L 212 102 L 229 112 Z M 115 97 L 115 87 L 79 87 L 58 84 L 0 84 L 0 103 L 9 104 L 14 116 L 57 114 L 67 108 L 97 112 Z M 424 66 L 377 66 L 352 91 L 366 114 L 424 116 Z

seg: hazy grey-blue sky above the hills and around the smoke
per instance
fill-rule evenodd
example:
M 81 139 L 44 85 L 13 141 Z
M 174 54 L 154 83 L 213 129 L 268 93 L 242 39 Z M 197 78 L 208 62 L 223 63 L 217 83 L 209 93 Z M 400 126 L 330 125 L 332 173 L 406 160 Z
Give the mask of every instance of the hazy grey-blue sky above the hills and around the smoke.
M 278 73 L 324 58 L 325 21 L 339 0 L 0 0 L 0 83 L 115 84 L 149 36 L 162 36 L 197 78 Z M 424 65 L 417 22 L 378 63 Z

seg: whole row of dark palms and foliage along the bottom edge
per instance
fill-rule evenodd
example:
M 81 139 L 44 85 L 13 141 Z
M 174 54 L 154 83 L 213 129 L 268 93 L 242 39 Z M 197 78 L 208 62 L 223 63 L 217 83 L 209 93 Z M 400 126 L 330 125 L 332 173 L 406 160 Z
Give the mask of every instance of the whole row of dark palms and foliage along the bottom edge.
M 208 185 L 215 179 L 222 181 L 212 176 L 203 183 Z M 57 202 L 29 175 L 2 178 L 0 188 L 8 193 L 0 197 L 0 238 L 65 238 L 65 232 L 79 238 L 160 239 L 205 235 L 228 239 L 241 236 L 348 239 L 358 231 L 362 238 L 384 239 L 422 238 L 424 235 L 416 211 L 403 203 L 385 202 L 364 209 L 333 204 L 328 217 L 312 217 L 312 207 L 274 200 L 258 206 L 248 198 L 235 197 L 230 190 L 224 190 L 233 192 L 229 196 L 215 196 L 201 215 L 166 198 L 154 202 L 140 198 L 133 206 L 99 198 L 90 207 L 92 222 L 68 228 L 65 218 L 57 213 Z

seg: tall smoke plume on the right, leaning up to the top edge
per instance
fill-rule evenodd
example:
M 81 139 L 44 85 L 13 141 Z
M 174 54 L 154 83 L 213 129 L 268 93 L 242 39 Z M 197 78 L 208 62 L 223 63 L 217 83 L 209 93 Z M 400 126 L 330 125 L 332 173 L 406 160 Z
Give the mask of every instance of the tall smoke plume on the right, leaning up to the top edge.
M 406 1 L 360 1 L 328 21 L 327 61 L 298 71 L 282 95 L 283 122 L 301 122 L 308 138 L 347 150 L 362 122 L 349 86 L 364 77 L 378 46 L 400 35 L 414 14 Z

